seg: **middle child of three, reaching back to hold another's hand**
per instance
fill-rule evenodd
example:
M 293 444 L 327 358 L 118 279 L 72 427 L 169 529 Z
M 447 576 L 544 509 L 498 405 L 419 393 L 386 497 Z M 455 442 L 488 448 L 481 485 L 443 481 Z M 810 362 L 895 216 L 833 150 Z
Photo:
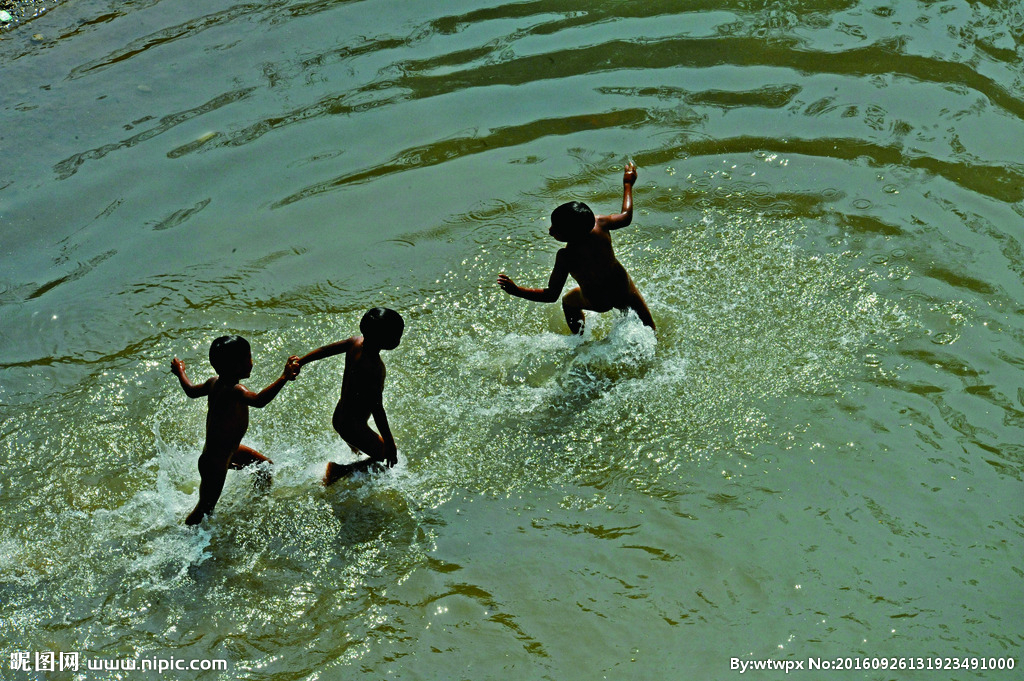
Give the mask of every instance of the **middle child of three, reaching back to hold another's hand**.
M 300 358 L 299 367 L 310 361 L 345 355 L 345 373 L 341 380 L 341 397 L 334 410 L 332 425 L 353 452 L 361 452 L 369 459 L 353 464 L 340 465 L 330 462 L 324 474 L 324 484 L 375 466 L 388 468 L 398 463 L 398 450 L 391 435 L 391 428 L 384 413 L 384 377 L 386 371 L 381 360 L 381 350 L 393 350 L 401 342 L 406 322 L 393 309 L 375 307 L 359 322 L 361 336 L 325 345 Z M 374 417 L 380 431 L 378 435 L 367 421 Z

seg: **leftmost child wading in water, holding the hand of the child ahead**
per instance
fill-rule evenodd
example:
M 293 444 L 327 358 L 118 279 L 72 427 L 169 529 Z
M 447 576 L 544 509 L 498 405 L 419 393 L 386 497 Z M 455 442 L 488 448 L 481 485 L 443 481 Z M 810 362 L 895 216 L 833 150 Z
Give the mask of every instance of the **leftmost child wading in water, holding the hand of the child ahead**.
M 299 374 L 299 358 L 291 356 L 285 364 L 281 378 L 260 392 L 251 392 L 239 383 L 249 378 L 253 369 L 252 349 L 249 341 L 241 336 L 221 336 L 210 345 L 210 364 L 217 376 L 205 383 L 195 384 L 185 375 L 185 365 L 174 357 L 171 373 L 178 377 L 181 388 L 191 398 L 207 397 L 206 443 L 199 457 L 199 503 L 185 518 L 186 525 L 199 524 L 206 514 L 213 511 L 224 488 L 227 469 L 241 469 L 269 459 L 259 452 L 242 444 L 249 430 L 249 408 L 262 409 L 273 399 L 288 381 Z M 256 481 L 258 486 L 270 483 L 270 474 L 263 470 Z

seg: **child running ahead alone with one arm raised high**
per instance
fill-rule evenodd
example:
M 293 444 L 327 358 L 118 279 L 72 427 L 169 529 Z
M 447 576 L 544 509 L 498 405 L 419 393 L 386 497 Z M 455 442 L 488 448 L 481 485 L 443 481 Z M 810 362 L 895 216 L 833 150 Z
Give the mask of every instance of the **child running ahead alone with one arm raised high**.
M 573 334 L 582 334 L 584 310 L 606 312 L 612 307 L 632 309 L 651 329 L 654 320 L 647 303 L 630 279 L 629 272 L 615 258 L 611 248 L 612 229 L 633 221 L 633 184 L 637 181 L 636 164 L 630 162 L 623 173 L 623 212 L 617 215 L 594 215 L 587 204 L 579 201 L 562 204 L 551 213 L 548 233 L 565 247 L 555 255 L 555 268 L 544 289 L 516 286 L 505 272 L 498 275 L 498 286 L 509 295 L 542 303 L 558 300 L 569 274 L 580 285 L 562 298 L 565 322 Z

